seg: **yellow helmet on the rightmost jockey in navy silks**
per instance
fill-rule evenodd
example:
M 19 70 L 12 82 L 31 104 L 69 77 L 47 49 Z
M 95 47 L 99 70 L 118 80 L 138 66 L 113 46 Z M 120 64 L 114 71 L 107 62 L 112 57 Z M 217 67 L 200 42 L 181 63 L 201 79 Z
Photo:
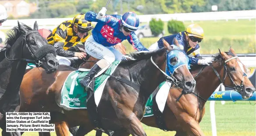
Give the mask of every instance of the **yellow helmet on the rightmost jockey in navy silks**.
M 185 32 L 188 36 L 194 36 L 203 39 L 203 28 L 198 24 L 190 24 L 186 28 Z

